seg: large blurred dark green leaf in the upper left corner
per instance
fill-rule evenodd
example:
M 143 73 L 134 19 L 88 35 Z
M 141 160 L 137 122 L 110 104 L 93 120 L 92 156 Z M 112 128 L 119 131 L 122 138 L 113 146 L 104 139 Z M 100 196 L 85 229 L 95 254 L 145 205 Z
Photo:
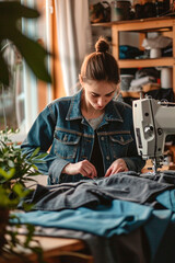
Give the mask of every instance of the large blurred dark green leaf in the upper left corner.
M 36 19 L 38 16 L 37 10 L 22 5 L 19 1 L 0 2 L 0 46 L 4 39 L 10 39 L 24 57 L 34 75 L 38 79 L 50 83 L 51 77 L 45 64 L 46 57 L 50 54 L 36 41 L 25 36 L 18 28 L 19 19 Z M 0 67 L 0 82 L 9 85 L 10 72 L 1 54 Z

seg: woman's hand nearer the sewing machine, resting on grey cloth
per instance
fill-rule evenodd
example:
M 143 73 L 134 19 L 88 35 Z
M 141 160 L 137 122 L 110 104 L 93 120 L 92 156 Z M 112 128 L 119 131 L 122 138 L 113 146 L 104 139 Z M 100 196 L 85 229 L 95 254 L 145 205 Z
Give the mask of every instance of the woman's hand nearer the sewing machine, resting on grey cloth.
M 112 163 L 112 165 L 107 169 L 105 178 L 110 176 L 112 174 L 118 172 L 127 172 L 128 168 L 126 162 L 122 159 L 117 159 Z

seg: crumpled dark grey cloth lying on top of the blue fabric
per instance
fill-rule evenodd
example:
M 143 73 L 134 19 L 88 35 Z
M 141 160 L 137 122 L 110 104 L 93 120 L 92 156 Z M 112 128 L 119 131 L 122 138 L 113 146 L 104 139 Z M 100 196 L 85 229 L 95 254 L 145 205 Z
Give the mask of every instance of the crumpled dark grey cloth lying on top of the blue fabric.
M 140 204 L 152 202 L 152 197 L 173 184 L 159 183 L 138 176 L 136 172 L 121 172 L 105 179 L 62 183 L 54 186 L 37 185 L 26 203 L 37 210 L 61 210 L 81 206 L 96 207 L 110 204 L 113 199 L 131 201 Z

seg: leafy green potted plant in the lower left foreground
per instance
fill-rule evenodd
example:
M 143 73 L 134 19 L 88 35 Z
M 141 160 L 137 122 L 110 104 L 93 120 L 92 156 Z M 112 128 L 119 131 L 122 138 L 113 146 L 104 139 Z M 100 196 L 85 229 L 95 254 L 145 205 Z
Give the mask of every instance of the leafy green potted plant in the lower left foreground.
M 16 247 L 21 245 L 25 249 L 31 249 L 38 256 L 38 262 L 43 262 L 42 248 L 31 245 L 34 241 L 33 233 L 34 227 L 27 225 L 27 235 L 24 242 L 18 239 L 18 231 L 10 228 L 9 219 L 11 217 L 10 211 L 18 208 L 19 203 L 26 197 L 32 190 L 25 186 L 28 181 L 35 182 L 35 175 L 39 172 L 35 167 L 35 163 L 42 162 L 42 158 L 46 155 L 37 155 L 39 149 L 25 159 L 25 155 L 22 155 L 21 148 L 15 142 L 12 142 L 9 138 L 12 130 L 0 132 L 0 255 L 5 256 L 7 253 L 13 253 L 15 255 L 23 256 L 20 252 L 16 252 Z M 31 209 L 30 206 L 25 206 L 24 209 Z M 14 226 L 13 226 L 14 227 Z M 20 224 L 15 226 L 20 227 Z M 26 258 L 24 255 L 24 262 Z

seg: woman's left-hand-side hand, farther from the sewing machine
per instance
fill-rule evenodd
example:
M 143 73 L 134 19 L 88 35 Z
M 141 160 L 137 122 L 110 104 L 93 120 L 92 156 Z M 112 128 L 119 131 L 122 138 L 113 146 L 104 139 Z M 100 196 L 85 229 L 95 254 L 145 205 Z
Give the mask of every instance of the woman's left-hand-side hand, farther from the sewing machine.
M 69 175 L 81 173 L 83 176 L 91 179 L 97 176 L 95 167 L 88 160 L 67 164 L 63 168 L 62 173 L 67 173 Z

